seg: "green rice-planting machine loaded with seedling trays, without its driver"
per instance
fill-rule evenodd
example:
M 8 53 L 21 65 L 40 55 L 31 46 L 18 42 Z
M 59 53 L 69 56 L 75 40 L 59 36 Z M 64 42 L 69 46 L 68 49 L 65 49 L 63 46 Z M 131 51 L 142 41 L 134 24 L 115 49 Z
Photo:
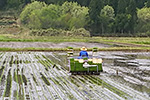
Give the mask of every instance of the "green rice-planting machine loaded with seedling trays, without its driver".
M 68 64 L 69 72 L 73 75 L 80 74 L 92 74 L 99 75 L 102 69 L 102 59 L 97 55 L 98 49 L 95 47 L 92 49 L 92 56 L 88 58 L 78 59 L 78 56 L 74 56 L 73 48 L 68 48 Z

